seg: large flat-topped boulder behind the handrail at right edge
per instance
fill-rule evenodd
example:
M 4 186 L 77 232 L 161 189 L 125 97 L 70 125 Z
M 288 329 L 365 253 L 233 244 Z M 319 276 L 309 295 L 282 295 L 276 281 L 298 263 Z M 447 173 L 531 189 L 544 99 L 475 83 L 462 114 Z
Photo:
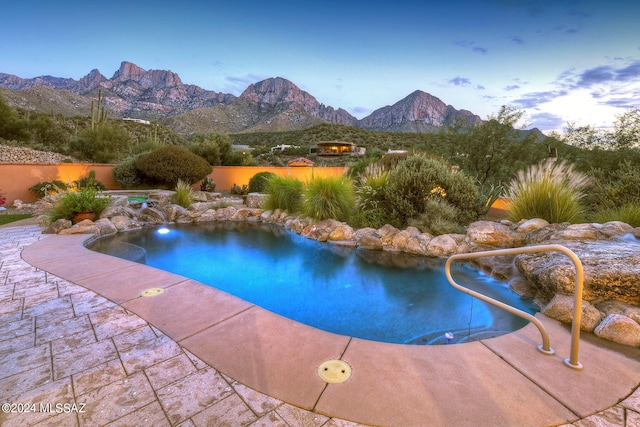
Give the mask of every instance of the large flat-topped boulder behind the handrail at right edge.
M 621 241 L 549 241 L 572 250 L 584 267 L 587 301 L 619 300 L 640 303 L 640 245 Z M 569 257 L 556 252 L 516 256 L 520 273 L 547 299 L 574 292 L 575 267 Z

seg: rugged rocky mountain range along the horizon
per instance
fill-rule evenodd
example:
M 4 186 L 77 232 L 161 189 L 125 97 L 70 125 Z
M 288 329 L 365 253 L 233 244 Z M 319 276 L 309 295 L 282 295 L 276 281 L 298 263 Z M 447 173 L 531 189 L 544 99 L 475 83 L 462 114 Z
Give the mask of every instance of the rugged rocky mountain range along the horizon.
M 158 121 L 178 134 L 269 132 L 334 123 L 389 132 L 431 132 L 479 116 L 456 110 L 437 97 L 415 91 L 358 120 L 342 108 L 325 106 L 281 77 L 249 85 L 240 96 L 184 84 L 169 70 L 144 70 L 122 62 L 111 78 L 97 69 L 80 80 L 52 76 L 20 78 L 0 73 L 0 95 L 13 107 L 64 115 L 89 115 L 102 92 L 111 118 Z

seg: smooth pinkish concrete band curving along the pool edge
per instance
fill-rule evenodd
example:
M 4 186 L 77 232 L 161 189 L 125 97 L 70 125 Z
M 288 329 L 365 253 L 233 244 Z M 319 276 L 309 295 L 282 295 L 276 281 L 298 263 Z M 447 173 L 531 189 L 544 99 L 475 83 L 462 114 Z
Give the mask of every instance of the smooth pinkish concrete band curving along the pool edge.
M 84 246 L 89 238 L 50 236 L 25 248 L 22 258 L 137 314 L 234 380 L 319 414 L 372 425 L 557 425 L 617 404 L 640 383 L 637 358 L 589 336 L 580 343 L 584 369 L 567 367 L 570 331 L 542 314 L 552 356 L 537 351 L 533 325 L 450 346 L 367 341 L 93 252 Z M 148 288 L 164 292 L 141 297 Z M 331 359 L 347 362 L 351 378 L 322 381 L 317 369 Z

